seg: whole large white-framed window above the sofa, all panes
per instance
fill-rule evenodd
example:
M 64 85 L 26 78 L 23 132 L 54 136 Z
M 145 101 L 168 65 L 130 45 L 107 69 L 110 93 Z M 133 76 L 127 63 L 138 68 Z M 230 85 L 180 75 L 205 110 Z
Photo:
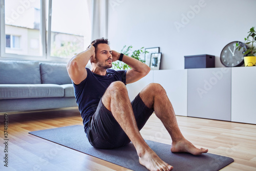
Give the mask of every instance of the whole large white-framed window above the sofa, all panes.
M 65 60 L 90 44 L 87 0 L 0 2 L 1 57 Z

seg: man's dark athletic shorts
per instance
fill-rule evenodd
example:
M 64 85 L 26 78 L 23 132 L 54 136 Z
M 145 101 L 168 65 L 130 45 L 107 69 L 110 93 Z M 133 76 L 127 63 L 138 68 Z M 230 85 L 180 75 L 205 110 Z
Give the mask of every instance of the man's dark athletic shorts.
M 144 104 L 139 94 L 131 104 L 138 129 L 141 130 L 154 110 Z M 105 108 L 102 100 L 94 115 L 90 117 L 87 138 L 96 148 L 117 148 L 131 142 L 112 113 Z

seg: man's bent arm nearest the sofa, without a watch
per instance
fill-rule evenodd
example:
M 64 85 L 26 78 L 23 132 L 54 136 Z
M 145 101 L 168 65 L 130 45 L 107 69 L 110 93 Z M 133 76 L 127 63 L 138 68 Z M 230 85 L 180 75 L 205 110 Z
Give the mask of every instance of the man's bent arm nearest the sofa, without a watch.
M 87 77 L 86 65 L 89 60 L 95 58 L 95 48 L 91 45 L 86 51 L 76 54 L 67 63 L 70 78 L 75 84 L 79 84 Z

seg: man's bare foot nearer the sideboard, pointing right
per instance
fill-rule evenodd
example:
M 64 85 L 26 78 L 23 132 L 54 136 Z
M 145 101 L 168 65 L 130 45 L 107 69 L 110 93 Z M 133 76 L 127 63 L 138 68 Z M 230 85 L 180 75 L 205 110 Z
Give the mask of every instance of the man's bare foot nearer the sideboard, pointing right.
M 188 140 L 183 139 L 181 141 L 173 142 L 170 151 L 173 153 L 190 153 L 198 156 L 207 153 L 208 149 L 197 148 Z

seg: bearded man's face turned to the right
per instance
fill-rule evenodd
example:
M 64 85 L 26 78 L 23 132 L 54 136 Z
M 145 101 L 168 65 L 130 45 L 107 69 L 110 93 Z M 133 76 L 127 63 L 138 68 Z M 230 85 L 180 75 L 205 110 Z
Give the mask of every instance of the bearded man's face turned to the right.
M 112 51 L 108 44 L 98 44 L 95 53 L 95 64 L 104 69 L 112 67 Z

